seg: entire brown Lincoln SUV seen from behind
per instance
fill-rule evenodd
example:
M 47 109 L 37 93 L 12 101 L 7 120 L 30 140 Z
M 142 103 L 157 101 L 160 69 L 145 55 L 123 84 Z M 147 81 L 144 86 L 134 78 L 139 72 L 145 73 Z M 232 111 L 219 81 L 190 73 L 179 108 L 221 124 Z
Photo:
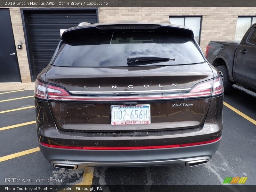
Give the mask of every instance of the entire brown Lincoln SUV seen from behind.
M 63 33 L 35 107 L 54 167 L 195 166 L 220 144 L 223 84 L 189 28 L 88 24 Z

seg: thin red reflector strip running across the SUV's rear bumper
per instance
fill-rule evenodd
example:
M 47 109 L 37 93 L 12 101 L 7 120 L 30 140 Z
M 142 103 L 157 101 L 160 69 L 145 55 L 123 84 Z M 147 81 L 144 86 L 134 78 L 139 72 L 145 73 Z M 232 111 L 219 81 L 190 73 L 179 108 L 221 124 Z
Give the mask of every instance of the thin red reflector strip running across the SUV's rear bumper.
M 74 147 L 74 146 L 60 146 L 60 145 L 50 145 L 46 143 L 40 142 L 42 145 L 53 148 L 64 148 L 64 149 L 87 149 L 87 150 L 130 150 L 130 149 L 158 149 L 158 148 L 174 148 L 174 147 L 187 147 L 193 145 L 202 145 L 207 143 L 212 143 L 217 140 L 220 140 L 221 137 L 208 140 L 201 141 L 196 143 L 185 143 L 185 144 L 175 144 L 175 145 L 156 145 L 156 146 L 141 146 L 141 147 Z

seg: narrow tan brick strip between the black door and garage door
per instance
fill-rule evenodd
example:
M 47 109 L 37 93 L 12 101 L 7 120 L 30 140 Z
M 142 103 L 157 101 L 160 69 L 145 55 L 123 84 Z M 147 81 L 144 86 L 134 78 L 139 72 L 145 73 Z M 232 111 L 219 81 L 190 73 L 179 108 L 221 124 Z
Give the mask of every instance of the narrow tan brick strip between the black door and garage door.
M 22 21 L 21 21 L 21 15 L 20 15 L 20 8 L 9 8 L 10 9 L 10 15 L 12 20 L 12 30 L 13 30 L 13 36 L 15 41 L 15 47 L 19 62 L 19 68 L 20 68 L 20 76 L 21 76 L 21 82 L 31 82 L 30 77 L 30 71 L 28 66 L 28 56 L 26 51 L 26 44 L 25 44 L 25 38 L 24 38 L 24 32 L 22 27 Z M 22 48 L 18 49 L 18 44 L 20 44 L 20 41 L 23 42 Z

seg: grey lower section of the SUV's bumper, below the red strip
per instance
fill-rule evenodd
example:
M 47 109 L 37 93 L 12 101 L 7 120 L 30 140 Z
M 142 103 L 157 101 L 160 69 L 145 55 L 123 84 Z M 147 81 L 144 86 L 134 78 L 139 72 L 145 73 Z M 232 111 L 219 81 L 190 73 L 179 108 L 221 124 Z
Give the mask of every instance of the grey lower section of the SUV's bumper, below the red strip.
M 78 169 L 86 166 L 149 166 L 186 162 L 209 161 L 220 145 L 220 140 L 188 147 L 135 149 L 135 150 L 78 150 L 46 147 L 39 144 L 45 158 L 54 164 L 74 164 Z M 188 165 L 187 165 L 188 166 Z

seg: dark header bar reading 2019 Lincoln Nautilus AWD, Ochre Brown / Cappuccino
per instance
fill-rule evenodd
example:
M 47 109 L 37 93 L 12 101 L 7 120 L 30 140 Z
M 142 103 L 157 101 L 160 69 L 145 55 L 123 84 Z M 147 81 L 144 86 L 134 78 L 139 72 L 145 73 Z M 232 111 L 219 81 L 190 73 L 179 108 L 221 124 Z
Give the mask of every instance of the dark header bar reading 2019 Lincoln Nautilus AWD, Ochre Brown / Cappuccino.
M 1 7 L 256 7 L 255 0 L 0 0 Z

